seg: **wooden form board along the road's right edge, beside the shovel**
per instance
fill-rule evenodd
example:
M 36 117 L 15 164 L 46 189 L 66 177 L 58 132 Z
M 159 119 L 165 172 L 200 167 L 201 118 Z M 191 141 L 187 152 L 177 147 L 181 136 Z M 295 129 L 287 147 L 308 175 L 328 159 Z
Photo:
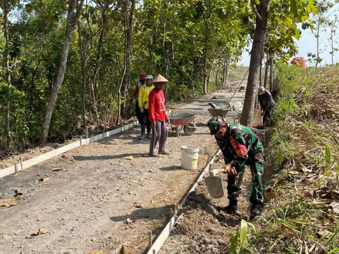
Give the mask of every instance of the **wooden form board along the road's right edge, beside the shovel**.
M 209 166 L 214 162 L 214 159 L 221 153 L 221 150 L 218 150 L 215 155 L 213 156 L 213 158 L 208 162 L 208 164 L 206 165 L 206 167 L 204 168 L 203 171 L 201 171 L 198 180 L 193 184 L 193 186 L 186 192 L 185 196 L 182 198 L 182 201 L 179 204 L 179 209 L 182 209 L 182 207 L 185 205 L 187 197 L 189 196 L 189 194 L 194 191 L 199 183 L 201 182 L 201 180 L 203 180 L 204 176 L 206 173 L 208 173 L 209 171 Z M 177 211 L 173 214 L 172 218 L 169 219 L 168 223 L 166 224 L 166 226 L 164 227 L 164 229 L 161 231 L 160 235 L 157 237 L 157 239 L 155 240 L 155 242 L 153 243 L 152 247 L 149 249 L 149 251 L 147 252 L 147 254 L 157 254 L 158 251 L 160 250 L 161 246 L 164 244 L 164 242 L 166 241 L 167 237 L 169 236 L 169 234 L 171 234 L 174 224 L 176 222 L 176 217 L 177 217 L 178 213 Z

